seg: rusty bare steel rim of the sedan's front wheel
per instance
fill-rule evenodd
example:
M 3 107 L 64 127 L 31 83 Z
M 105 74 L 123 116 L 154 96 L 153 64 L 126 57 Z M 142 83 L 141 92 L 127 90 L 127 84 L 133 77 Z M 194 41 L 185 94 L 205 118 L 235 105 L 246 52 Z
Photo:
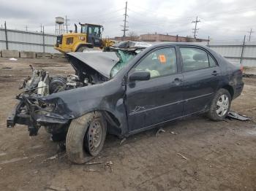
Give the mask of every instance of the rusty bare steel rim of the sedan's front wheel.
M 89 127 L 89 152 L 94 152 L 102 141 L 102 125 L 99 120 L 91 122 Z

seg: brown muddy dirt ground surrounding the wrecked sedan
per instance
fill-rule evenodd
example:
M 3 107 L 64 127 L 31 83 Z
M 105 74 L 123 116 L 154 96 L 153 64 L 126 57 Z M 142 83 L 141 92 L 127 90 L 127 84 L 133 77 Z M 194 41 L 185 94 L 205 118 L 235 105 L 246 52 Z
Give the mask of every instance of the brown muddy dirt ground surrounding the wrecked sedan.
M 29 63 L 51 74 L 72 71 L 64 60 L 1 58 L 0 190 L 256 190 L 255 78 L 244 79 L 231 107 L 252 117 L 249 122 L 189 117 L 164 125 L 157 137 L 157 129 L 149 130 L 120 145 L 108 136 L 93 160 L 102 163 L 74 165 L 43 128 L 35 137 L 23 125 L 6 128 Z

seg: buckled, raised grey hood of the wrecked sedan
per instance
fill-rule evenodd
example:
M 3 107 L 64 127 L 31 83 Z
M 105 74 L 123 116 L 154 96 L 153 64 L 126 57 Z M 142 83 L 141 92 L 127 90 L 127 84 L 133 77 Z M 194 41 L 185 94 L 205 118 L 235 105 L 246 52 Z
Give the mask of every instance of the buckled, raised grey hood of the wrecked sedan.
M 110 78 L 111 69 L 119 61 L 116 52 L 69 52 L 67 56 L 76 71 L 82 70 L 83 65 L 86 65 L 108 79 Z

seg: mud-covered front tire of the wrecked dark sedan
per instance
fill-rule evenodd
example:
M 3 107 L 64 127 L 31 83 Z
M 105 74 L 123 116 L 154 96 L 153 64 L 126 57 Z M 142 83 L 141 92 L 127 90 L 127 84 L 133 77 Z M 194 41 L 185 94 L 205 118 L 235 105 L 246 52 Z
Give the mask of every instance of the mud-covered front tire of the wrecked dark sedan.
M 92 133 L 89 133 L 89 130 L 94 130 L 95 123 L 101 125 L 100 129 L 102 131 L 100 140 L 97 141 L 97 147 L 92 150 L 91 143 L 93 143 L 94 136 L 92 136 Z M 77 164 L 86 163 L 91 160 L 92 157 L 98 155 L 102 150 L 106 133 L 106 121 L 100 112 L 90 112 L 72 120 L 66 138 L 68 159 Z

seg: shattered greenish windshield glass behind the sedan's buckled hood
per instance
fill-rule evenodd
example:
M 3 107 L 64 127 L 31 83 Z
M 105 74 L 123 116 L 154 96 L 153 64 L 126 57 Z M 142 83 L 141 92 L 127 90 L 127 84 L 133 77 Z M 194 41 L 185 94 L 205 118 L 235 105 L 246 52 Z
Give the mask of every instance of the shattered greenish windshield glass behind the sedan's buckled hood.
M 123 51 L 123 50 L 118 50 L 116 52 L 116 55 L 118 56 L 119 61 L 111 69 L 110 78 L 114 77 L 118 73 L 118 71 L 123 69 L 124 66 L 127 65 L 128 61 L 132 60 L 132 58 L 134 58 L 136 54 L 132 53 L 132 52 L 126 52 L 126 51 Z

